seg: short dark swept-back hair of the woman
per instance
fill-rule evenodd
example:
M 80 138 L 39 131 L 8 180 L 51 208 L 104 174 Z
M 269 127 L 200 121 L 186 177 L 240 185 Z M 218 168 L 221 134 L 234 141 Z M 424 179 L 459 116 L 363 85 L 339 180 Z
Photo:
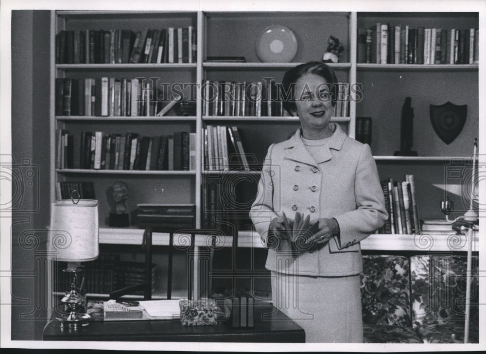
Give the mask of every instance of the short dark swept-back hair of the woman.
M 292 114 L 296 110 L 295 106 L 295 84 L 297 80 L 306 74 L 316 74 L 321 76 L 330 84 L 330 93 L 332 97 L 332 106 L 336 105 L 337 97 L 337 79 L 334 71 L 327 65 L 318 61 L 297 65 L 285 72 L 282 79 L 282 100 L 283 108 Z

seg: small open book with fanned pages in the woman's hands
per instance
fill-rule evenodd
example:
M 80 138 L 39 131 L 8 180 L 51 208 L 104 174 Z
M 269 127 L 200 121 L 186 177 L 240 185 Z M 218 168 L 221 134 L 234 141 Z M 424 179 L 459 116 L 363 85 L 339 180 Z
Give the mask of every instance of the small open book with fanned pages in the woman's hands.
M 289 220 L 287 215 L 283 213 L 284 226 L 287 231 L 287 241 L 293 254 L 298 254 L 302 251 L 313 247 L 312 242 L 307 241 L 312 238 L 312 235 L 319 231 L 319 221 L 316 220 L 311 223 L 311 216 L 301 212 L 295 212 L 295 219 Z

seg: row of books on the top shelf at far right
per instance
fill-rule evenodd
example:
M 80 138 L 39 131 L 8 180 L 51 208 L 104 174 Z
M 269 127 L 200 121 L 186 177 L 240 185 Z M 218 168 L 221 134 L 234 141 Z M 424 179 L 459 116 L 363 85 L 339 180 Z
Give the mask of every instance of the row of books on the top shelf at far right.
M 377 23 L 358 28 L 358 63 L 478 64 L 479 29 L 411 28 Z

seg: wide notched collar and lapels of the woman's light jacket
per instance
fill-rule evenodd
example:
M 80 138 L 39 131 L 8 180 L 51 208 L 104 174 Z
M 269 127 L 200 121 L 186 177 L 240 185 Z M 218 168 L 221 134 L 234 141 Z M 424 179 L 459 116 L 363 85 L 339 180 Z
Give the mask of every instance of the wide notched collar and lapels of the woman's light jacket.
M 294 136 L 287 141 L 287 144 L 284 147 L 284 158 L 306 163 L 311 166 L 317 166 L 319 163 L 329 161 L 332 159 L 330 149 L 341 150 L 347 137 L 339 124 L 330 123 L 330 128 L 334 130 L 334 133 L 331 135 L 328 144 L 322 147 L 317 160 L 312 157 L 300 138 L 302 128 L 299 128 Z

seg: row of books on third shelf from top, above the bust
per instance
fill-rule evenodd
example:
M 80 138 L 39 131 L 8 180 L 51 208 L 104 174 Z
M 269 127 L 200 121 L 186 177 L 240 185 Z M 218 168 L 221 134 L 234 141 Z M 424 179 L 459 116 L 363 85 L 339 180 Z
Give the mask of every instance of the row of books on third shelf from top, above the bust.
M 60 136 L 69 136 L 66 130 Z M 57 151 L 68 160 L 56 160 L 56 168 L 73 168 L 73 146 L 57 142 Z M 73 142 L 73 139 L 67 139 Z M 140 136 L 138 133 L 105 134 L 101 131 L 82 132 L 80 138 L 80 169 L 95 170 L 168 170 L 194 171 L 196 166 L 196 135 L 176 131 L 170 135 Z

